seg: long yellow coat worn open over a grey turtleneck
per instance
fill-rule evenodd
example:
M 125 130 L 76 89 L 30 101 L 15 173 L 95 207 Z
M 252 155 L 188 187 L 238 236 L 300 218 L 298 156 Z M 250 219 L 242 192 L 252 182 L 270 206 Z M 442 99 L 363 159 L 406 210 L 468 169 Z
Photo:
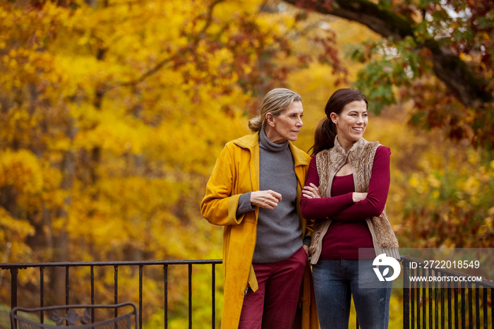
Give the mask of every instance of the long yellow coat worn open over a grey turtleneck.
M 258 140 L 259 133 L 253 133 L 232 140 L 225 145 L 212 170 L 211 177 L 207 182 L 205 197 L 200 204 L 201 213 L 208 222 L 224 226 L 222 329 L 239 327 L 245 289 L 247 285 L 254 292 L 258 289 L 258 282 L 251 268 L 259 208 L 256 207 L 254 211 L 236 217 L 236 208 L 239 205 L 241 194 L 259 190 Z M 306 220 L 301 215 L 300 198 L 311 158 L 290 142 L 289 147 L 294 157 L 295 174 L 298 181 L 297 213 L 302 232 L 305 232 L 304 235 L 308 235 Z M 306 275 L 301 287 L 301 292 L 303 292 L 300 301 L 302 313 L 297 316 L 297 319 L 301 321 L 297 320 L 297 328 L 319 328 L 310 279 L 311 270 L 307 264 Z M 309 323 L 311 323 L 310 326 Z

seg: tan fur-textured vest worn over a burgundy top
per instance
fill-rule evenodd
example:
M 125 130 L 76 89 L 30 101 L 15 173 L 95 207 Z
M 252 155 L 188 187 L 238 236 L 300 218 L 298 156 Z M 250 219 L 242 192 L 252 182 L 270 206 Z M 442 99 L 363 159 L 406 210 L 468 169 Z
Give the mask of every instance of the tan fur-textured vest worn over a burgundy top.
M 354 176 L 354 184 L 356 192 L 367 192 L 369 187 L 370 175 L 374 162 L 375 151 L 380 144 L 378 142 L 370 143 L 361 138 L 356 141 L 349 152 L 345 152 L 342 145 L 338 142 L 338 137 L 335 138 L 335 146 L 330 150 L 318 152 L 315 157 L 315 163 L 318 167 L 319 174 L 319 193 L 323 198 L 331 196 L 331 186 L 335 175 L 341 169 L 347 159 L 351 164 L 351 170 Z M 386 253 L 399 260 L 398 240 L 394 236 L 390 221 L 387 220 L 386 208 L 378 217 L 366 218 L 369 227 L 370 235 L 372 236 L 375 255 Z M 331 219 L 317 220 L 314 225 L 312 234 L 311 248 L 311 264 L 318 263 L 320 254 L 323 251 L 323 238 L 327 233 L 327 229 L 331 225 Z

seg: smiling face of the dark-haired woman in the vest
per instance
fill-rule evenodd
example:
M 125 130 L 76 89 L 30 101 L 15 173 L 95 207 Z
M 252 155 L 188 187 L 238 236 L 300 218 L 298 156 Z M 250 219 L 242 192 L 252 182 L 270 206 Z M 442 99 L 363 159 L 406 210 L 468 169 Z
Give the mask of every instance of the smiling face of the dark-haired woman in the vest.
M 349 102 L 339 115 L 333 112 L 331 120 L 336 124 L 339 143 L 353 144 L 361 139 L 363 132 L 366 131 L 367 104 L 363 100 Z

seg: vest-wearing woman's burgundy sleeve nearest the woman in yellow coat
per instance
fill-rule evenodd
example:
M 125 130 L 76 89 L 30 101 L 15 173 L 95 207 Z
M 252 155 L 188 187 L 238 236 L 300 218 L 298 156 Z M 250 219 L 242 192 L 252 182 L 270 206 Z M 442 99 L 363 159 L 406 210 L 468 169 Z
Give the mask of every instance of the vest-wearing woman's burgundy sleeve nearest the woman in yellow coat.
M 319 186 L 318 166 L 315 162 L 315 156 L 312 157 L 311 164 L 309 164 L 306 186 L 311 183 Z M 318 220 L 335 215 L 353 203 L 351 193 L 330 198 L 306 198 L 302 195 L 300 201 L 302 215 L 308 220 Z

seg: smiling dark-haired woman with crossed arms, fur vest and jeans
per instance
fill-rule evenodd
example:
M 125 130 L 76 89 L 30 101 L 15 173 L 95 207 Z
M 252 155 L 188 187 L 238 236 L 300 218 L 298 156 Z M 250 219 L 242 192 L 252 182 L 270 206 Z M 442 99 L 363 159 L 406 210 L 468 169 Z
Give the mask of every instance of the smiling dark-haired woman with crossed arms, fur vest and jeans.
M 303 215 L 315 221 L 311 263 L 322 329 L 348 328 L 351 297 L 361 328 L 387 328 L 391 282 L 378 280 L 373 258 L 399 259 L 385 213 L 391 152 L 363 139 L 367 107 L 349 88 L 327 101 L 301 200 Z

